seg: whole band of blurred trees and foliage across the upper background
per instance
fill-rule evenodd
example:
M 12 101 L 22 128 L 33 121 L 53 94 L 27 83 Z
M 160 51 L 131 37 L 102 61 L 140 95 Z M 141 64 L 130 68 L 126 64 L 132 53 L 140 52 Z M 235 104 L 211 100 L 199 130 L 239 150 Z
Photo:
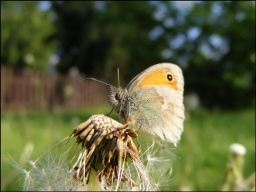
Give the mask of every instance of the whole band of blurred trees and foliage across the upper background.
M 112 84 L 120 67 L 123 86 L 151 65 L 176 63 L 185 94 L 204 106 L 255 106 L 252 1 L 1 1 L 1 63 L 42 69 L 50 54 L 60 73 L 77 67 Z

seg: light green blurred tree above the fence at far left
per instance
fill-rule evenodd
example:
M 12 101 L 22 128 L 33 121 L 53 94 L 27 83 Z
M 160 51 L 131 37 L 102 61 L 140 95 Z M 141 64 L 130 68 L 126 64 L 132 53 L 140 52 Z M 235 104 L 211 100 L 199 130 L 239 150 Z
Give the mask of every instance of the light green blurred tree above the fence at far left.
M 57 43 L 49 11 L 38 1 L 1 1 L 1 65 L 45 69 Z

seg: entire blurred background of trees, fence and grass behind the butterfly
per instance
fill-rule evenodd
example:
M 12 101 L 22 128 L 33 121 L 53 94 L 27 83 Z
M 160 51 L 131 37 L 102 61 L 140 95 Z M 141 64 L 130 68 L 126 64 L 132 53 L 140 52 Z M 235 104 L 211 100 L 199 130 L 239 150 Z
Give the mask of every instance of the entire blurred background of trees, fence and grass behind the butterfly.
M 246 148 L 243 177 L 253 174 L 255 2 L 1 1 L 1 190 L 23 185 L 3 156 L 19 162 L 34 146 L 35 159 L 111 110 L 109 86 L 86 77 L 116 86 L 119 67 L 125 86 L 161 62 L 185 77 L 168 190 L 221 190 L 234 142 Z

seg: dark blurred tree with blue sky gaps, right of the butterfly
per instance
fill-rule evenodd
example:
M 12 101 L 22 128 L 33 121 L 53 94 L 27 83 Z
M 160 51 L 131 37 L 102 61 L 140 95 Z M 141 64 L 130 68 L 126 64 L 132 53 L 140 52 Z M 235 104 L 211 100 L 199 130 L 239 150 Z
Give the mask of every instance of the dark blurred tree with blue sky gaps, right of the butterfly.
M 174 26 L 183 43 L 170 46 L 184 66 L 185 90 L 207 107 L 255 106 L 255 2 L 198 2 L 187 10 Z

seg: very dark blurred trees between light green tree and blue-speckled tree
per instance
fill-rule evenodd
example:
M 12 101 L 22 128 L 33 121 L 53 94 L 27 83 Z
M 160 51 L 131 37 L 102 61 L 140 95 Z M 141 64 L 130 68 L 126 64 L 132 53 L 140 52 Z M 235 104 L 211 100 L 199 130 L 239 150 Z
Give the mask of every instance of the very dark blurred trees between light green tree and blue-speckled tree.
M 122 82 L 131 78 L 134 68 L 141 71 L 161 60 L 159 42 L 148 36 L 157 25 L 148 2 L 54 1 L 53 9 L 58 15 L 61 73 L 76 66 L 88 76 L 116 80 L 121 67 Z

